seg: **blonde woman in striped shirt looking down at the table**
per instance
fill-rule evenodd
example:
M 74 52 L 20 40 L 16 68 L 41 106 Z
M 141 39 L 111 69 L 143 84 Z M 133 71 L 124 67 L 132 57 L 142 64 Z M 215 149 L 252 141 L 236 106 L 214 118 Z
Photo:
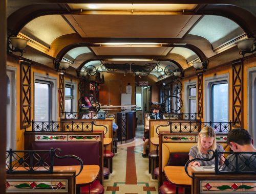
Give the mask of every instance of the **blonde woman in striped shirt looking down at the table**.
M 216 134 L 212 127 L 204 127 L 198 135 L 198 143 L 196 146 L 190 148 L 189 160 L 194 158 L 211 158 L 212 153 L 208 153 L 208 150 L 218 150 L 218 152 L 224 152 L 221 144 L 216 143 Z M 220 159 L 220 164 L 224 163 L 224 156 Z M 215 164 L 215 159 L 210 161 L 193 161 L 189 165 L 192 166 L 210 166 Z

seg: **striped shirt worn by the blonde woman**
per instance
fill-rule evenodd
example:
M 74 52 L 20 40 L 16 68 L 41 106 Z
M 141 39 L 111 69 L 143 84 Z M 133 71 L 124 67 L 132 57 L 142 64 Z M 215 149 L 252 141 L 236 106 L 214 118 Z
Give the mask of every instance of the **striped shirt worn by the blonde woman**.
M 217 143 L 217 150 L 218 152 L 224 152 L 223 147 L 220 143 Z M 193 158 L 211 158 L 210 154 L 204 154 L 199 152 L 197 145 L 190 148 L 189 156 Z M 200 166 L 211 166 L 212 164 L 215 164 L 215 159 L 212 159 L 210 161 L 198 161 L 200 163 Z

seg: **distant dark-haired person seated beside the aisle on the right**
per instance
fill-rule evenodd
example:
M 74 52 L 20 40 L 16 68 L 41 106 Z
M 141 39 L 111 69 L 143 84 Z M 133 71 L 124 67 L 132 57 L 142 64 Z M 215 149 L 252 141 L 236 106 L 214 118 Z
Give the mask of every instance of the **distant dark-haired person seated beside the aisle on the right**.
M 153 104 L 151 106 L 151 114 L 147 116 L 147 119 L 146 119 L 146 123 L 145 123 L 145 141 L 144 141 L 144 144 L 143 144 L 143 154 L 142 154 L 142 157 L 145 158 L 146 157 L 146 147 L 148 145 L 148 139 L 150 138 L 150 134 L 149 134 L 149 129 L 150 129 L 150 119 L 164 119 L 164 116 L 162 114 L 159 114 L 159 109 L 160 109 L 160 106 L 159 105 L 156 105 L 156 104 Z

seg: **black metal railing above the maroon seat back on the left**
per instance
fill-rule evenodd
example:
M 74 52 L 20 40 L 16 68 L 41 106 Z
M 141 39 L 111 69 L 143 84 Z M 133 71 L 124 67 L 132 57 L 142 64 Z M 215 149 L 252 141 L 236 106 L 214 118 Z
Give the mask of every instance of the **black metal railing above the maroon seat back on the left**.
M 32 132 L 93 132 L 93 126 L 99 126 L 104 128 L 104 134 L 108 132 L 108 128 L 104 125 L 97 125 L 96 120 L 85 121 L 85 122 L 75 122 L 73 120 L 65 120 L 61 122 L 31 122 Z M 27 128 L 25 128 L 25 131 Z

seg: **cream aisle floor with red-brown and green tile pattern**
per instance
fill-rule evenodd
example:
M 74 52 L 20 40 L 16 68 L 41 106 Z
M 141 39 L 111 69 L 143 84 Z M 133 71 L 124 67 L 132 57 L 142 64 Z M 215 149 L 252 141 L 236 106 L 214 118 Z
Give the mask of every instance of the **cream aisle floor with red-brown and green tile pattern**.
M 142 151 L 143 140 L 140 138 L 117 146 L 117 153 L 113 158 L 113 173 L 108 180 L 104 180 L 105 193 L 158 193 L 157 180 L 153 180 L 151 174 L 148 174 L 148 158 L 142 158 Z M 127 155 L 129 158 L 126 158 Z M 128 172 L 126 168 L 129 168 Z M 133 173 L 135 168 L 136 175 Z M 127 182 L 129 184 L 125 184 Z

